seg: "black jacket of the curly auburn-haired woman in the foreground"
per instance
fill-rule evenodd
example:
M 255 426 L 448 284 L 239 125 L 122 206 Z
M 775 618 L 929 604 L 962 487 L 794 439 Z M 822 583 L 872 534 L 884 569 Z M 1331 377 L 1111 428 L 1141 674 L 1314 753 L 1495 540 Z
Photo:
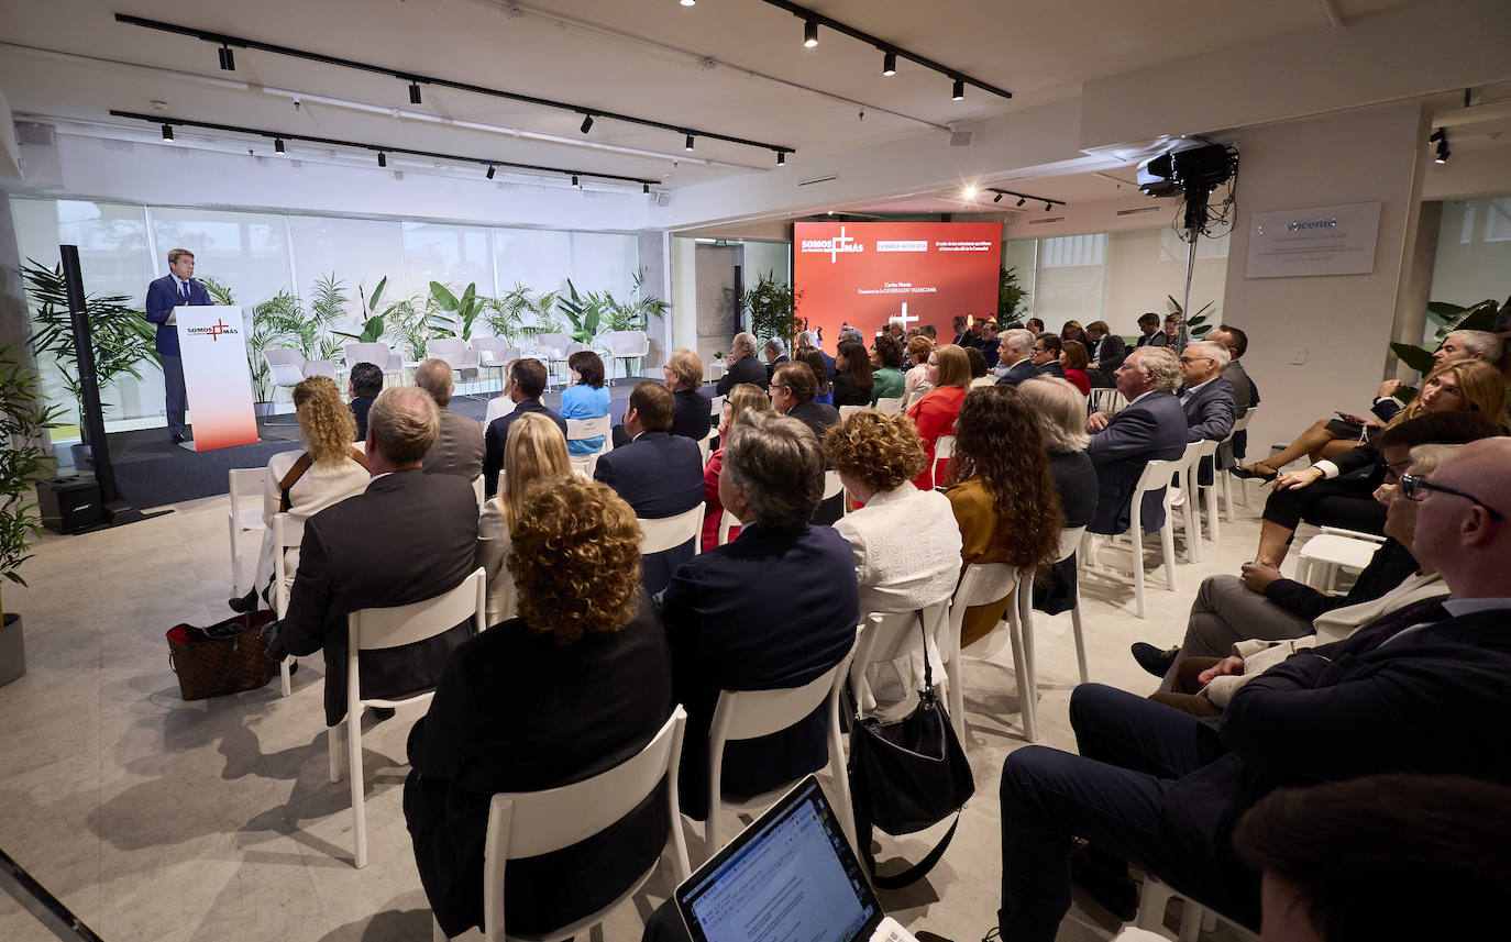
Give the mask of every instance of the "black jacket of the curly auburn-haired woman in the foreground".
M 666 634 L 645 599 L 620 631 L 588 633 L 571 645 L 517 617 L 456 649 L 429 711 L 409 731 L 413 771 L 403 787 L 420 883 L 449 936 L 482 924 L 491 797 L 612 768 L 656 735 L 671 705 Z M 573 922 L 648 870 L 666 842 L 662 788 L 580 844 L 511 860 L 508 931 L 542 934 Z

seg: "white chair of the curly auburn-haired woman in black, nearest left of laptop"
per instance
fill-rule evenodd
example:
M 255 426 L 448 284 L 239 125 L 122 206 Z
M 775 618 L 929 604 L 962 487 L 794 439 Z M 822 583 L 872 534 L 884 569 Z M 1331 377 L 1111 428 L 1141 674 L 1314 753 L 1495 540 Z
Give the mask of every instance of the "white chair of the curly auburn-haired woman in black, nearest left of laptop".
M 688 713 L 677 706 L 656 738 L 633 758 L 620 762 L 591 779 L 547 788 L 542 791 L 517 791 L 493 796 L 488 805 L 488 830 L 482 854 L 482 937 L 485 942 L 506 942 L 503 897 L 509 860 L 535 857 L 553 850 L 571 847 L 610 824 L 623 820 L 641 802 L 650 797 L 662 779 L 666 780 L 672 847 L 672 876 L 681 883 L 692 876 L 688 862 L 688 844 L 681 835 L 681 811 L 677 808 L 677 771 L 681 765 L 681 735 Z M 612 903 L 595 913 L 562 925 L 542 936 L 530 936 L 530 942 L 558 942 L 573 936 L 588 934 L 592 927 L 620 904 L 641 891 L 641 886 L 656 873 L 657 860 L 636 877 Z M 435 927 L 435 939 L 444 939 L 441 927 Z

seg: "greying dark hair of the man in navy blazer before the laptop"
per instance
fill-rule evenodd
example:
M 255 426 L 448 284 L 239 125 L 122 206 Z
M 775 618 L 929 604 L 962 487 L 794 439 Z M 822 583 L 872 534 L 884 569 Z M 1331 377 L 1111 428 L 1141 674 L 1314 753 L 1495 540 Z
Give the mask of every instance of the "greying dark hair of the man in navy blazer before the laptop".
M 819 439 L 796 418 L 775 412 L 740 412 L 724 445 L 722 473 L 745 492 L 763 527 L 804 524 L 823 498 Z

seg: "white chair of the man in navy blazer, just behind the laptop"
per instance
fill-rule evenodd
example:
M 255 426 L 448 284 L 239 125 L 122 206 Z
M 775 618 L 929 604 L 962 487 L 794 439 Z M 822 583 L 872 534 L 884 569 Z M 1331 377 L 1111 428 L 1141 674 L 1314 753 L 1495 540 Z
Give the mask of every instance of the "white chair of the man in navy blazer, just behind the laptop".
M 757 740 L 801 723 L 828 699 L 830 703 L 830 776 L 834 782 L 834 814 L 840 820 L 851 847 L 855 845 L 855 815 L 851 812 L 849 779 L 845 774 L 845 744 L 840 741 L 840 691 L 855 646 L 837 664 L 802 687 L 786 690 L 721 690 L 709 726 L 709 820 L 703 827 L 704 845 L 712 857 L 719 851 L 719 812 L 759 814 L 787 793 L 798 779 L 742 802 L 724 799 L 724 744 L 730 740 Z M 801 777 L 801 776 L 799 776 Z

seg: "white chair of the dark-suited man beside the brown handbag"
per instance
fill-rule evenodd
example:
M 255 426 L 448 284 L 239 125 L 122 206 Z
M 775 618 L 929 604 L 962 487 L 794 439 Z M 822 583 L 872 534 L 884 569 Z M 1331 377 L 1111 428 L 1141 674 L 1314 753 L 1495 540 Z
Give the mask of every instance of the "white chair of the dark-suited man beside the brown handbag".
M 367 867 L 367 814 L 363 791 L 363 706 L 402 706 L 428 702 L 435 691 L 417 693 L 397 700 L 363 699 L 358 682 L 357 655 L 363 651 L 402 648 L 450 631 L 464 620 L 473 622 L 473 633 L 487 625 L 487 577 L 476 569 L 455 589 L 423 602 L 391 608 L 360 608 L 346 616 L 346 716 L 328 726 L 326 744 L 331 753 L 331 782 L 341 780 L 341 726 L 346 726 L 346 753 L 352 782 L 352 833 L 357 842 L 357 868 Z

